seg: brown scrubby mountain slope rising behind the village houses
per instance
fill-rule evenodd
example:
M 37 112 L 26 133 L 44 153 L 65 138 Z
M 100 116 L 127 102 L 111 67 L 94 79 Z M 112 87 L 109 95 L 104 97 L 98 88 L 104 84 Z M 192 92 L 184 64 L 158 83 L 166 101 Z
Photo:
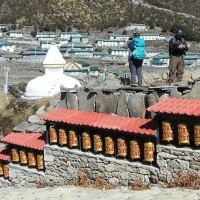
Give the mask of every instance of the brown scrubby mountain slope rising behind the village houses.
M 182 28 L 189 40 L 200 41 L 200 0 L 1 0 L 0 23 L 33 25 L 34 31 L 71 27 L 108 29 L 129 23 L 158 26 L 163 32 Z

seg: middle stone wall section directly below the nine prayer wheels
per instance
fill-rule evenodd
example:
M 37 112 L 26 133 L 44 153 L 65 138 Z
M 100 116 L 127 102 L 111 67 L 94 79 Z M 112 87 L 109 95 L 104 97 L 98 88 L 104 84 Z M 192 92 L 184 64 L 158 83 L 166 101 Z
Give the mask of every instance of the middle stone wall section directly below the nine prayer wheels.
M 48 145 L 45 166 L 49 185 L 73 184 L 79 171 L 84 171 L 92 180 L 103 177 L 112 184 L 128 186 L 136 179 L 150 184 L 157 183 L 159 172 L 156 167 L 137 162 Z

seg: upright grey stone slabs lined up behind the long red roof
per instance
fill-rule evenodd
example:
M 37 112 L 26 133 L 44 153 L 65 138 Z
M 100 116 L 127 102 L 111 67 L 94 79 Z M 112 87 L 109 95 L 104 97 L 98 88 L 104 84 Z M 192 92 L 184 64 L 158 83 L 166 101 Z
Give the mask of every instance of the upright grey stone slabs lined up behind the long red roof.
M 144 118 L 149 114 L 146 108 L 157 103 L 158 100 L 156 92 L 151 91 L 145 94 L 143 89 L 138 89 L 138 91 L 102 91 L 100 89 L 89 91 L 86 88 L 78 88 L 77 91 L 61 93 L 60 107 Z

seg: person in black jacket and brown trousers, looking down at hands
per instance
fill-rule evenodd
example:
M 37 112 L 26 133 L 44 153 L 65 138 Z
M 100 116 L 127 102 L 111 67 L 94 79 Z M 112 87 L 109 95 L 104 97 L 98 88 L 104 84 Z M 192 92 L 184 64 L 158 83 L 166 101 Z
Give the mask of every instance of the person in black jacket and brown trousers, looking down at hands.
M 178 29 L 175 36 L 169 41 L 169 84 L 182 81 L 186 51 L 188 51 L 188 46 L 184 39 L 184 33 L 181 29 Z

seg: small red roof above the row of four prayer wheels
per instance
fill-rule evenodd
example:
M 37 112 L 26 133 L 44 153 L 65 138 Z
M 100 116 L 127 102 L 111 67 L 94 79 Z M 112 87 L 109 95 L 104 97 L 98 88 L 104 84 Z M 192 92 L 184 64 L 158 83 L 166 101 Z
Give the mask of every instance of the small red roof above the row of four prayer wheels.
M 43 150 L 45 145 L 45 140 L 41 133 L 12 132 L 0 141 L 36 150 Z

